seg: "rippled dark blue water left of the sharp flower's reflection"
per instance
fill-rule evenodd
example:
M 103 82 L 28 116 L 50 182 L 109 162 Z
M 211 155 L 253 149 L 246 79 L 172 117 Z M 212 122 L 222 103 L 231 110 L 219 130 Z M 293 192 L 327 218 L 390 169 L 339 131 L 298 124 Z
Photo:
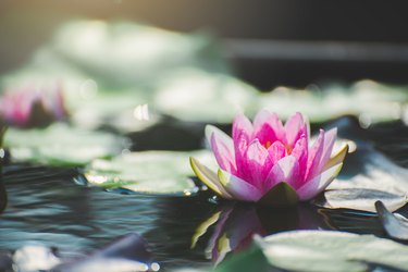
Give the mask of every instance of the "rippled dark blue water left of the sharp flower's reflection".
M 9 203 L 0 215 L 0 259 L 33 243 L 57 247 L 62 257 L 76 259 L 136 232 L 146 237 L 163 269 L 208 263 L 189 249 L 195 227 L 214 208 L 207 195 L 123 195 L 75 184 L 77 174 L 66 169 L 5 166 Z

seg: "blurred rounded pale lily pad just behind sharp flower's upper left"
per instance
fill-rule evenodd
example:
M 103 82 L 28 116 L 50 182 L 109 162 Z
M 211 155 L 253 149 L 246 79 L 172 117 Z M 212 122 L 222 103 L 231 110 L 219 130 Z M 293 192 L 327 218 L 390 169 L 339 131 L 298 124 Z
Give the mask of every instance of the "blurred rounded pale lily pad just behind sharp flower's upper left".
M 254 115 L 259 91 L 224 74 L 180 70 L 158 83 L 153 104 L 183 121 L 231 123 L 238 112 Z

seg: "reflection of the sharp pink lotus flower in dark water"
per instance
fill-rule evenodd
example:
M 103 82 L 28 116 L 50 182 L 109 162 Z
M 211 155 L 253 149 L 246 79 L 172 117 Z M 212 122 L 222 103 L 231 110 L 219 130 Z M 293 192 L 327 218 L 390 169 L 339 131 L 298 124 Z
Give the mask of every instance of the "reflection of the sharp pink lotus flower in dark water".
M 247 248 L 254 234 L 265 236 L 283 231 L 325 227 L 324 218 L 305 203 L 287 208 L 226 203 L 196 228 L 191 248 L 199 248 L 206 240 L 205 255 L 218 264 L 230 252 Z

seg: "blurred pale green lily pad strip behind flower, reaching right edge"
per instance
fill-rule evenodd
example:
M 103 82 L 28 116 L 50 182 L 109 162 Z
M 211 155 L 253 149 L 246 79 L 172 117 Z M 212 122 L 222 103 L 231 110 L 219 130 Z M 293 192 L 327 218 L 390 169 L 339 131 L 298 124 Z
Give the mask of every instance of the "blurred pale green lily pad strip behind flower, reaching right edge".
M 408 103 L 407 88 L 361 81 L 347 87 L 331 85 L 296 90 L 277 87 L 260 97 L 260 104 L 287 119 L 300 111 L 311 122 L 324 122 L 342 115 L 359 118 L 362 126 L 401 119 Z

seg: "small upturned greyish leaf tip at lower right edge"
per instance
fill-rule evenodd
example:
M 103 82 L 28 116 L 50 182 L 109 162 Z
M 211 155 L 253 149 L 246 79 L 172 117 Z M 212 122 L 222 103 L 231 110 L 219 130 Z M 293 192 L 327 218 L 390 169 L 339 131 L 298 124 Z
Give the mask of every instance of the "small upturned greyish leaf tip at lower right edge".
M 375 209 L 385 232 L 395 239 L 408 240 L 408 220 L 390 212 L 383 202 L 376 201 Z

